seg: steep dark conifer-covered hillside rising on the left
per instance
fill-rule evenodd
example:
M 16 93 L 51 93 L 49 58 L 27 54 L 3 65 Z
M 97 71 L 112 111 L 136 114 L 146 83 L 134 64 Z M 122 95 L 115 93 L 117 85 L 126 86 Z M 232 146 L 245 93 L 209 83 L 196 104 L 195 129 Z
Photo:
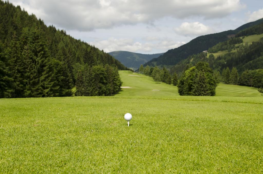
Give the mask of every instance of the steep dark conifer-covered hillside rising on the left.
M 93 70 L 96 68 L 92 66 L 100 67 L 99 72 L 92 72 L 94 78 L 107 69 L 127 69 L 98 48 L 70 37 L 64 30 L 47 27 L 19 6 L 0 1 L 0 98 L 71 96 L 71 89 L 79 83 L 77 74 L 85 65 Z M 119 77 L 118 73 L 107 75 L 111 76 Z M 111 86 L 107 77 L 104 84 L 96 83 L 94 90 Z M 116 91 L 107 90 L 111 91 L 93 94 Z

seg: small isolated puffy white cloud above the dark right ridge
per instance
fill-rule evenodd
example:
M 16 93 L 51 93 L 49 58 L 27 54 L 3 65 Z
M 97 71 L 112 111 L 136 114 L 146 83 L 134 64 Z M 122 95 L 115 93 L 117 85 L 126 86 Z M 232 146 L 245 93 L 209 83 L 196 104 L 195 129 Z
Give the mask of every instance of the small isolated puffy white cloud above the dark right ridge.
M 213 33 L 213 29 L 200 22 L 183 22 L 180 27 L 174 29 L 176 33 L 184 36 L 199 36 Z

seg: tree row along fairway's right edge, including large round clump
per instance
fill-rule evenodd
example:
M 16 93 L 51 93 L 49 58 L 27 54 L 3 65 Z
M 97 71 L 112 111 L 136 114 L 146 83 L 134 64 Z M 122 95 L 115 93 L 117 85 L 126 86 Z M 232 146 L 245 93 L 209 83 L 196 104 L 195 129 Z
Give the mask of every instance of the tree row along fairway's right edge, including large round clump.
M 154 81 L 161 81 L 166 84 L 173 84 L 178 87 L 180 95 L 192 96 L 214 96 L 217 86 L 216 78 L 213 70 L 206 62 L 199 62 L 196 66 L 186 66 L 183 75 L 178 79 L 176 73 L 173 76 L 163 67 L 159 69 L 157 66 L 150 67 L 143 65 L 139 68 L 139 73 L 151 76 Z

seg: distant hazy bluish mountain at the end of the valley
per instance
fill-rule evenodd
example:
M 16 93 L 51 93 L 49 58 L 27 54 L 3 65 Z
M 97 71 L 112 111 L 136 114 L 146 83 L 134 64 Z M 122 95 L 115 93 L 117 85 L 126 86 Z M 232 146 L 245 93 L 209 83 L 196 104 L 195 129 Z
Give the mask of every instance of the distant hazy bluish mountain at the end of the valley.
M 133 70 L 138 69 L 141 64 L 145 64 L 151 59 L 163 55 L 163 53 L 140 54 L 128 51 L 114 51 L 110 52 L 109 54 L 112 55 L 115 59 L 119 60 L 123 65 L 127 66 L 128 68 L 132 68 Z

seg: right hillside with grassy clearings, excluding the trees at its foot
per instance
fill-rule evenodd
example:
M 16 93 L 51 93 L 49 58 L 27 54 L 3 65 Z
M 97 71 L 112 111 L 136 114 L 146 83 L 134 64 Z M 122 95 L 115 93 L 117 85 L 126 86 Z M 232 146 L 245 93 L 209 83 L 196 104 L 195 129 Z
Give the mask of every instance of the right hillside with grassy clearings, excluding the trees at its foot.
M 239 74 L 245 70 L 263 69 L 263 23 L 241 30 L 236 37 L 229 38 L 208 49 L 207 53 L 193 54 L 171 68 L 171 73 L 181 75 L 185 67 L 198 62 L 208 62 L 214 71 L 236 68 Z

